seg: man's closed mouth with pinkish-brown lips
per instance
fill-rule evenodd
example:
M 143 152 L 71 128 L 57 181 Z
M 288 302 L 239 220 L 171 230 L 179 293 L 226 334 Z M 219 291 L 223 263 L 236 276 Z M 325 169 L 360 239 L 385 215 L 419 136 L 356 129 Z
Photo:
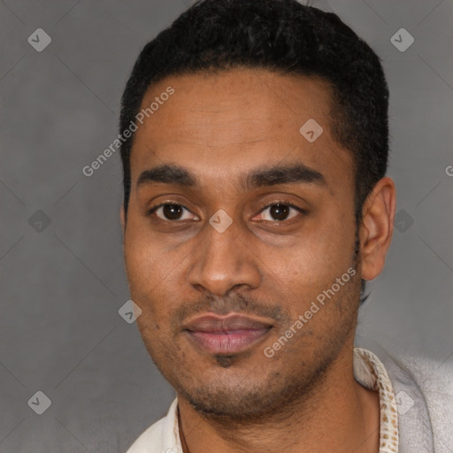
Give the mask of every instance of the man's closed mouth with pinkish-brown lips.
M 273 328 L 271 322 L 239 314 L 206 314 L 184 326 L 197 347 L 216 355 L 232 355 L 250 349 Z

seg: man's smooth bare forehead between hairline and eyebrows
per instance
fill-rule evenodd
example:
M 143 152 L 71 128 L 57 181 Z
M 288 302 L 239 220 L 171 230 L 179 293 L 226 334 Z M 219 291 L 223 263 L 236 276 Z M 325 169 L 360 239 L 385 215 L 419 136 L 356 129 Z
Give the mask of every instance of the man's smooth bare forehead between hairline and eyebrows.
M 169 88 L 173 95 L 163 96 Z M 165 162 L 231 175 L 287 157 L 315 168 L 342 165 L 351 177 L 350 153 L 330 132 L 330 86 L 319 78 L 261 69 L 172 76 L 150 87 L 147 108 L 134 137 L 133 181 L 142 168 Z M 322 134 L 311 142 L 301 127 Z

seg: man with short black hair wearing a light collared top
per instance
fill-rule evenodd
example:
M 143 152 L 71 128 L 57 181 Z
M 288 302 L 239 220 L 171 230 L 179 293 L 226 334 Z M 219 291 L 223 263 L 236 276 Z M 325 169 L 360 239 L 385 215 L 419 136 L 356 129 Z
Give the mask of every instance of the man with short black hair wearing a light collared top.
M 128 451 L 433 451 L 410 375 L 354 348 L 395 217 L 369 46 L 295 0 L 206 0 L 142 50 L 120 129 L 127 278 L 177 394 Z

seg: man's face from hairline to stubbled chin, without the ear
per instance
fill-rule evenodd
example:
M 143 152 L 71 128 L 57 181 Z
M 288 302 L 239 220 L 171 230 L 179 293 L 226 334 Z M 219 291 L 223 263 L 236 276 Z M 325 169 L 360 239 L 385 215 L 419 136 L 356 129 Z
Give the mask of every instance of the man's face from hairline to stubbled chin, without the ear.
M 352 157 L 331 134 L 323 81 L 246 69 L 169 77 L 142 108 L 169 86 L 131 155 L 124 248 L 137 324 L 198 410 L 277 411 L 352 348 Z M 314 141 L 312 122 L 300 132 L 310 119 L 323 128 Z M 143 173 L 163 165 L 187 174 Z

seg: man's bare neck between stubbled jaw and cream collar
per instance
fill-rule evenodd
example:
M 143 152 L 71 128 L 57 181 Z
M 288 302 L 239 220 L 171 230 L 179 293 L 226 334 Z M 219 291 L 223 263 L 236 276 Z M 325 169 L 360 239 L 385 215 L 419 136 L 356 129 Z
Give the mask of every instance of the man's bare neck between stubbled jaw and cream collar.
M 310 395 L 247 425 L 207 418 L 181 395 L 178 406 L 184 453 L 379 451 L 379 394 L 354 379 L 350 349 L 337 357 Z

